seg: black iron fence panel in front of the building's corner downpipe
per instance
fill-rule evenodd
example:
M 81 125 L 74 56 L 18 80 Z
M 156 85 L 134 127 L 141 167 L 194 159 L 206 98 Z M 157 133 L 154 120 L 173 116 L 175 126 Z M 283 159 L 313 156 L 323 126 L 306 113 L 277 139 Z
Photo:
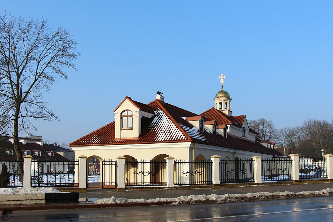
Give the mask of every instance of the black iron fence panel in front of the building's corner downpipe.
M 211 160 L 175 160 L 175 185 L 210 185 L 212 181 Z

